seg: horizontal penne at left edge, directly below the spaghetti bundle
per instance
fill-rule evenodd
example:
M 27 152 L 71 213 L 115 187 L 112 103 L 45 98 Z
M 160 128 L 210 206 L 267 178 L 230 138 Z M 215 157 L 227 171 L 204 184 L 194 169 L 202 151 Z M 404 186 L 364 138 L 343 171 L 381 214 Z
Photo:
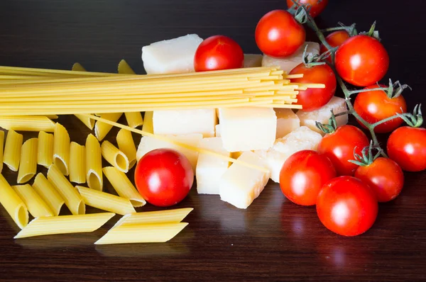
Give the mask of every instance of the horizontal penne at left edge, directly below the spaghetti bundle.
M 18 131 L 46 131 L 55 130 L 55 122 L 43 115 L 10 115 L 0 116 L 0 128 Z

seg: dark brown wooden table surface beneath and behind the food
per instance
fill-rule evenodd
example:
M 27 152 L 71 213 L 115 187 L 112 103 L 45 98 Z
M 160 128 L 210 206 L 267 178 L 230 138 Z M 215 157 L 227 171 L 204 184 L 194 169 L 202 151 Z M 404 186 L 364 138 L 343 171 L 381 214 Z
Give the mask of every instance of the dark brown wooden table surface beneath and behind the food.
M 386 78 L 413 86 L 405 94 L 412 109 L 426 104 L 425 6 L 422 0 L 330 0 L 317 21 L 322 27 L 357 22 L 367 30 L 377 20 L 391 57 Z M 282 8 L 284 0 L 2 0 L 0 64 L 70 69 L 80 62 L 89 71 L 115 72 L 126 59 L 142 73 L 143 45 L 187 33 L 229 35 L 245 52 L 258 52 L 258 19 Z M 60 122 L 74 141 L 82 143 L 89 133 L 72 116 Z M 4 174 L 16 181 L 16 174 Z M 351 238 L 326 230 L 315 208 L 290 203 L 276 184 L 247 210 L 192 189 L 178 205 L 195 208 L 185 220 L 190 225 L 165 244 L 95 247 L 113 221 L 91 234 L 15 241 L 17 227 L 0 208 L 0 281 L 426 280 L 426 173 L 405 175 L 401 195 L 380 205 L 371 230 Z

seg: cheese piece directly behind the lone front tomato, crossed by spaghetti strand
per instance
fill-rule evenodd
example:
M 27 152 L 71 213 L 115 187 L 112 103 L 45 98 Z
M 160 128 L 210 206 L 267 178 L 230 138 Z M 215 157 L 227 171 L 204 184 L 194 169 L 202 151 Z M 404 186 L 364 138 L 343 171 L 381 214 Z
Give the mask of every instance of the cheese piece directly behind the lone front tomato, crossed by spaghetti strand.
M 187 135 L 165 135 L 168 139 L 181 142 L 186 145 L 190 145 L 192 147 L 198 147 L 200 141 L 202 140 L 202 135 L 200 133 L 195 134 L 187 134 Z M 138 152 L 136 153 L 136 158 L 139 160 L 143 157 L 144 154 L 160 148 L 170 148 L 181 152 L 187 157 L 190 161 L 192 169 L 195 172 L 195 168 L 197 167 L 197 159 L 198 152 L 190 149 L 186 149 L 184 147 L 180 147 L 170 142 L 166 142 L 163 140 L 155 139 L 154 137 L 145 136 L 142 137 L 141 143 L 138 146 Z

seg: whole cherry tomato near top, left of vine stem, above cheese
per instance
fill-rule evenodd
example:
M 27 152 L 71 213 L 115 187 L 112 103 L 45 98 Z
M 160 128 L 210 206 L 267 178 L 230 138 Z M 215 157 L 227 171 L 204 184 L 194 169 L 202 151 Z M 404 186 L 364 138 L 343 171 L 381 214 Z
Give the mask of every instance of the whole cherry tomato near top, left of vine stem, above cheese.
M 256 26 L 256 44 L 268 56 L 287 57 L 305 43 L 305 28 L 284 10 L 266 13 Z

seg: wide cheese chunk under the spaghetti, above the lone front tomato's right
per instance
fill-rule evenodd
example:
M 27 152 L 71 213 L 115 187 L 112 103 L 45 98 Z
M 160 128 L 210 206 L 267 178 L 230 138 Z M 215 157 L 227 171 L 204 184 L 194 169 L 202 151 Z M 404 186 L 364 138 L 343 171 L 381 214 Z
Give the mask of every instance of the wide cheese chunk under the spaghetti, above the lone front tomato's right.
M 214 108 L 196 110 L 154 111 L 154 134 L 186 135 L 201 133 L 203 137 L 214 137 L 217 115 Z

